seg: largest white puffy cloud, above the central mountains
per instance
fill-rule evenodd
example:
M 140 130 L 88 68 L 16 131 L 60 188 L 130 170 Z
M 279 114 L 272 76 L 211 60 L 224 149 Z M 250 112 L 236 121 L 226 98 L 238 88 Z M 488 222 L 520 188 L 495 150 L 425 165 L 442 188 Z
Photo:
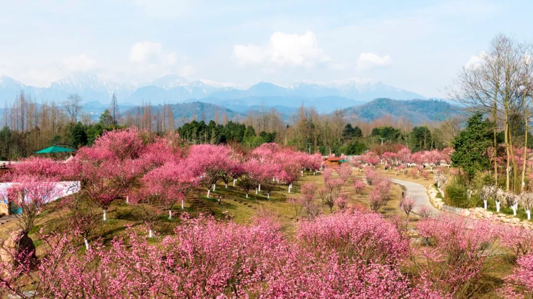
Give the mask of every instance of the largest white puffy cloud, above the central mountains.
M 312 68 L 330 61 L 318 47 L 316 35 L 307 31 L 303 35 L 274 32 L 268 45 L 235 45 L 233 56 L 241 64 L 274 64 Z

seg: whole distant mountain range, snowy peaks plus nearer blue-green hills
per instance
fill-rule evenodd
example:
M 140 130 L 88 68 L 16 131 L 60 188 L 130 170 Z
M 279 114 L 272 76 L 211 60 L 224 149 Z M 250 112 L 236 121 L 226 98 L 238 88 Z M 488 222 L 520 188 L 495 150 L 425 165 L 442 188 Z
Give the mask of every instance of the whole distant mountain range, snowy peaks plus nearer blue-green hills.
M 346 115 L 373 120 L 384 115 L 405 116 L 413 123 L 438 121 L 453 113 L 453 106 L 445 101 L 426 100 L 423 96 L 380 81 L 351 78 L 330 82 L 296 82 L 288 87 L 260 82 L 246 89 L 208 80 L 189 81 L 174 74 L 157 78 L 148 85 L 121 85 L 104 81 L 93 74 L 78 73 L 53 82 L 48 87 L 34 87 L 10 77 L 0 77 L 0 103 L 12 102 L 21 92 L 41 101 L 61 102 L 77 93 L 83 98 L 83 109 L 98 119 L 109 107 L 111 95 L 116 94 L 122 112 L 148 104 L 161 107 L 172 105 L 176 124 L 189 121 L 193 114 L 198 120 L 244 117 L 250 110 L 268 111 L 272 108 L 288 119 L 298 107 L 314 107 L 318 112 L 330 113 L 343 109 Z M 373 101 L 373 99 L 376 99 Z M 405 100 L 405 101 L 398 101 Z M 407 101 L 409 100 L 409 101 Z

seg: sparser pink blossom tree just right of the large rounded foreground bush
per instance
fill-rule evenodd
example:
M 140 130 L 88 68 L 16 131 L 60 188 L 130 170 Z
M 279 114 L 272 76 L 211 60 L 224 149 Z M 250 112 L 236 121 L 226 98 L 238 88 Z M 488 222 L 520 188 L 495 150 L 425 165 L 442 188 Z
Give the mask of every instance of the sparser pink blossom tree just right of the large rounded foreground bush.
M 487 258 L 501 250 L 497 230 L 489 221 L 443 213 L 419 221 L 417 227 L 431 246 L 415 251 L 415 267 L 436 288 L 454 297 L 470 294 L 471 287 L 489 271 Z

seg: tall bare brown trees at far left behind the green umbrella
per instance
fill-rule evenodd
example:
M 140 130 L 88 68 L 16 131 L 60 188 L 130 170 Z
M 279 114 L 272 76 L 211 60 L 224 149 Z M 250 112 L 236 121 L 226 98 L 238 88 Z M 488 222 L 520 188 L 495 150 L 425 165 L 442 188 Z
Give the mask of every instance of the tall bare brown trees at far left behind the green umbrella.
M 21 92 L 11 107 L 3 109 L 0 129 L 0 160 L 17 160 L 53 143 L 73 146 L 91 144 L 104 130 L 116 128 L 120 121 L 116 96 L 110 109 L 94 123 L 82 112 L 82 98 L 72 94 L 56 104 L 37 103 Z

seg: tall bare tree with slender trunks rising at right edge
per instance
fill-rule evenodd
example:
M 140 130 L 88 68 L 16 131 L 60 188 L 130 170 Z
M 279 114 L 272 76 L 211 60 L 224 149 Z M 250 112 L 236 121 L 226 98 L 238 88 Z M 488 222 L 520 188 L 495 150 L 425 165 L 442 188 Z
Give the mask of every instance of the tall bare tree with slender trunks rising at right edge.
M 496 36 L 490 44 L 488 52 L 480 55 L 478 63 L 466 65 L 458 74 L 453 87 L 448 89 L 449 97 L 462 103 L 467 110 L 488 113 L 495 123 L 494 126 L 494 157 L 497 155 L 497 131 L 503 129 L 506 152 L 505 186 L 506 190 L 516 189 L 518 167 L 514 160 L 513 128 L 516 115 L 523 115 L 524 81 L 530 75 L 524 72 L 529 66 L 524 64 L 526 45 L 516 43 L 505 36 Z M 527 132 L 526 132 L 527 134 Z M 512 167 L 511 167 L 512 163 Z M 512 181 L 511 181 L 512 170 Z M 494 179 L 498 184 L 498 164 L 494 159 Z M 513 182 L 513 186 L 511 186 Z

